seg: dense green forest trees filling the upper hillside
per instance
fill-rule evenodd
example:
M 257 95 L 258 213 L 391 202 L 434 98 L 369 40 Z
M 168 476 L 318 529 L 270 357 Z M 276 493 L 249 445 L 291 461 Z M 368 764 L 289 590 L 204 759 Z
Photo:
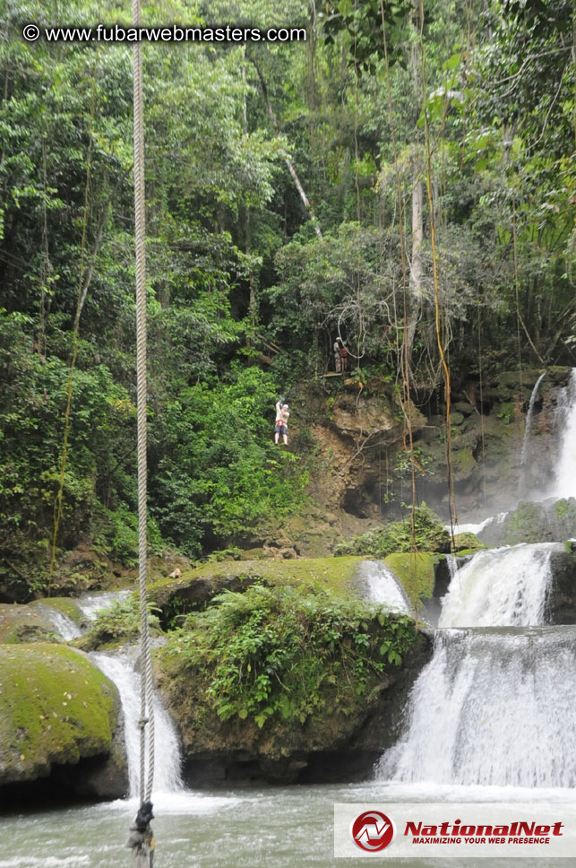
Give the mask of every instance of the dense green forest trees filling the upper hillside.
M 305 450 L 274 450 L 273 405 L 331 364 L 336 334 L 363 382 L 396 378 L 407 340 L 419 395 L 434 392 L 434 254 L 454 382 L 574 363 L 572 3 L 424 7 L 420 21 L 417 4 L 383 3 L 387 65 L 375 0 L 146 5 L 147 24 L 307 29 L 249 50 L 144 46 L 157 547 L 198 557 L 300 508 Z M 125 45 L 30 44 L 21 25 L 126 14 L 96 0 L 0 13 L 1 569 L 38 562 L 39 585 L 78 309 L 57 542 L 96 534 L 134 554 L 132 71 Z

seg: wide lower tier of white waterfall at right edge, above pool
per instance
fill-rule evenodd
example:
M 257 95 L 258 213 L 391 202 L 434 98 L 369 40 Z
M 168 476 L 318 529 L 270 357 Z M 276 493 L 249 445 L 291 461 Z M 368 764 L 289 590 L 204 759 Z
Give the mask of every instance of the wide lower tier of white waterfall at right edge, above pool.
M 576 786 L 575 668 L 574 627 L 438 630 L 378 777 Z

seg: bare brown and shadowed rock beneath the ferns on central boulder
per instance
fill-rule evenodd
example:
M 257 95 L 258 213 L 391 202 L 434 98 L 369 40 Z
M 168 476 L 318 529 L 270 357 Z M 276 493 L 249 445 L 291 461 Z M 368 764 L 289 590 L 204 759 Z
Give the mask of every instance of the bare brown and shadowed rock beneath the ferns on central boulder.
M 198 708 L 183 683 L 160 673 L 159 686 L 180 730 L 189 786 L 269 782 L 322 783 L 365 779 L 395 742 L 408 691 L 432 656 L 421 631 L 400 667 L 390 667 L 351 714 L 316 716 L 264 726 L 254 720 L 221 721 Z

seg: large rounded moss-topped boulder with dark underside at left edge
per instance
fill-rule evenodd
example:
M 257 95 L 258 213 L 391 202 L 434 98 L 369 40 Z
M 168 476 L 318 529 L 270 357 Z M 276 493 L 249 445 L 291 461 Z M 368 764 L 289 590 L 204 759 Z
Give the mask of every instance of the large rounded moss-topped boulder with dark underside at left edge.
M 0 789 L 125 795 L 119 709 L 115 685 L 81 652 L 0 646 Z

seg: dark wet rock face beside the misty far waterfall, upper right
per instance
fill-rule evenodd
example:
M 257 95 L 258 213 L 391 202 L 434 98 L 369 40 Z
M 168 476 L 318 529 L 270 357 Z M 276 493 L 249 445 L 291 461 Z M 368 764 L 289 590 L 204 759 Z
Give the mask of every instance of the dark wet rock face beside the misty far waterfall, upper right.
M 451 463 L 459 515 L 510 508 L 520 496 L 542 499 L 549 490 L 558 454 L 558 410 L 570 376 L 570 368 L 550 368 L 540 382 L 533 404 L 524 462 L 526 417 L 532 390 L 543 369 L 506 371 L 486 381 L 480 400 L 478 384 L 454 391 L 451 414 Z M 461 400 L 466 395 L 467 401 Z M 415 447 L 424 473 L 417 476 L 420 498 L 439 511 L 448 512 L 445 420 L 442 407 L 417 432 Z M 435 408 L 434 408 L 435 409 Z M 480 414 L 482 412 L 482 415 Z

